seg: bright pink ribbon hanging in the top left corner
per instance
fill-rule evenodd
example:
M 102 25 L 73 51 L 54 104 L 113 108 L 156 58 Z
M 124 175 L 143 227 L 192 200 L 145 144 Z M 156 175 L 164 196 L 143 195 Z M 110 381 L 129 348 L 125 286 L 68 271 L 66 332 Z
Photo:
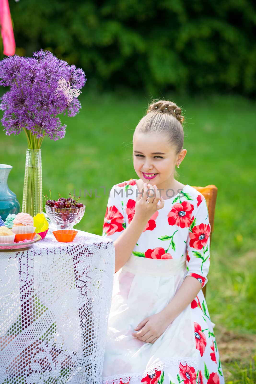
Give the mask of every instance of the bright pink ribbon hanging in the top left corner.
M 8 0 L 0 0 L 0 26 L 3 39 L 3 54 L 7 56 L 14 55 L 16 46 Z

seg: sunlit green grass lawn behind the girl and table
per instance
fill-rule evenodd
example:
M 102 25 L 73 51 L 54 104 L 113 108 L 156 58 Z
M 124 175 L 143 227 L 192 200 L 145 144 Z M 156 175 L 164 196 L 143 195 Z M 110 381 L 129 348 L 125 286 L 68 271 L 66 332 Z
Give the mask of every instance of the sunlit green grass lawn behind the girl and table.
M 169 95 L 169 99 L 174 95 Z M 187 123 L 184 148 L 187 155 L 179 168 L 184 184 L 218 187 L 207 305 L 218 339 L 223 330 L 243 336 L 256 335 L 255 176 L 256 104 L 238 96 L 174 98 L 183 105 Z M 146 111 L 149 98 L 124 94 L 87 94 L 75 118 L 62 118 L 66 137 L 44 139 L 42 149 L 43 194 L 57 199 L 75 190 L 86 205 L 76 226 L 102 235 L 108 190 L 137 178 L 132 162 L 132 136 Z M 0 162 L 11 164 L 8 185 L 22 202 L 26 139 L 1 133 Z M 105 194 L 104 189 L 105 187 Z M 84 197 L 84 190 L 90 192 Z M 251 335 L 251 336 L 250 336 Z M 240 368 L 230 358 L 223 363 L 227 382 L 244 381 L 249 358 L 238 356 Z M 253 369 L 254 365 L 253 365 Z M 240 372 L 241 371 L 241 372 Z M 233 373 L 232 373 L 233 372 Z M 252 373 L 255 379 L 255 371 Z M 248 373 L 249 377 L 249 373 Z

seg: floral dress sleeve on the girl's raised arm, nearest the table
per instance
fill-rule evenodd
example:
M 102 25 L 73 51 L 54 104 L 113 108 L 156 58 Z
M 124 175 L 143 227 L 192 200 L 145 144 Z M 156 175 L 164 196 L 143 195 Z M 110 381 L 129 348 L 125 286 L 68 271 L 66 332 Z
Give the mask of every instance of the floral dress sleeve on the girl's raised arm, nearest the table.
M 123 188 L 114 185 L 108 196 L 102 236 L 115 241 L 126 228 L 123 211 Z

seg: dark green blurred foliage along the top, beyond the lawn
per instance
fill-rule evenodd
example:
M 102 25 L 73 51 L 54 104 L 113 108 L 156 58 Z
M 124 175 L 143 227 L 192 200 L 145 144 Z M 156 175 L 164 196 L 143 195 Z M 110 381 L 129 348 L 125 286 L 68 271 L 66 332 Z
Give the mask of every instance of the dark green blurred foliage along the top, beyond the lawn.
M 256 91 L 250 0 L 10 1 L 17 53 L 48 48 L 99 90 Z

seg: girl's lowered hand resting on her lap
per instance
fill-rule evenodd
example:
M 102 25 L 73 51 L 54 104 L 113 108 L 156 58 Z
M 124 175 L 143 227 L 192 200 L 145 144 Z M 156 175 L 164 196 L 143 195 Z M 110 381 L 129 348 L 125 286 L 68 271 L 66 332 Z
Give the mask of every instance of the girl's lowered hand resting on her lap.
M 168 319 L 164 312 L 161 311 L 141 321 L 135 328 L 135 331 L 140 330 L 134 332 L 132 335 L 141 341 L 145 341 L 145 343 L 153 344 L 160 336 L 162 336 L 170 324 L 170 319 Z

